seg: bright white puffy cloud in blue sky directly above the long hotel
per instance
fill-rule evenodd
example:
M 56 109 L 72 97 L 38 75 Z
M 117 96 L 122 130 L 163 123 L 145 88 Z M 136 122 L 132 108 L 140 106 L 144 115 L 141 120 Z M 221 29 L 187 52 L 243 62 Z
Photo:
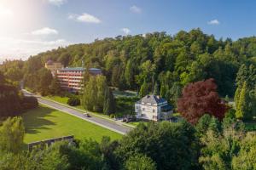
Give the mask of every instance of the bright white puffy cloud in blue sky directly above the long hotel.
M 78 22 L 86 22 L 86 23 L 94 23 L 94 24 L 99 24 L 102 22 L 102 20 L 96 18 L 96 16 L 93 16 L 91 14 L 69 14 L 68 19 L 70 20 L 76 20 Z

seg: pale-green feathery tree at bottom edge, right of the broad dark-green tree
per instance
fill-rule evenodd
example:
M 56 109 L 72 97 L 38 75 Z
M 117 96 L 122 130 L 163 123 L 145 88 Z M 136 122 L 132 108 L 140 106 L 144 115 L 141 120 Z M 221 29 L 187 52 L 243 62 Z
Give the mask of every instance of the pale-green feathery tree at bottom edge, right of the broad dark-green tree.
M 224 129 L 222 133 L 215 133 L 209 129 L 201 138 L 201 156 L 199 161 L 206 170 L 232 169 L 232 159 L 239 152 L 240 140 L 243 133 L 233 127 Z

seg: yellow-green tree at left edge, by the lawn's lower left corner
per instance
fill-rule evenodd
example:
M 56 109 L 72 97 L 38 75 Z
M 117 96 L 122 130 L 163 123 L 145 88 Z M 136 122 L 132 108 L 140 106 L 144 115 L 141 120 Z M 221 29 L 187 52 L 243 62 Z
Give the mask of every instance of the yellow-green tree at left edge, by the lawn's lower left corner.
M 20 152 L 25 136 L 22 118 L 8 118 L 0 128 L 0 135 L 0 150 L 2 152 Z

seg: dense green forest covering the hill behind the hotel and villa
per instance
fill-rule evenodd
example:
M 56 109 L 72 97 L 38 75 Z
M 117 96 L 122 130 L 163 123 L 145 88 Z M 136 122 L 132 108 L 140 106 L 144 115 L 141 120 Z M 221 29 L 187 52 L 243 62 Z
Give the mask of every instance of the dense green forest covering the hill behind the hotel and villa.
M 26 62 L 6 61 L 0 70 L 13 80 L 19 80 L 23 72 L 31 82 L 26 81 L 28 87 L 45 91 L 40 85 L 44 82 L 34 80 L 44 74 L 39 70 L 48 59 L 66 66 L 81 66 L 84 60 L 85 65 L 102 69 L 108 85 L 137 90 L 142 96 L 160 94 L 176 105 L 185 85 L 208 78 L 215 79 L 220 96 L 233 97 L 240 66 L 256 64 L 255 40 L 256 37 L 235 42 L 217 40 L 200 29 L 179 31 L 174 36 L 165 32 L 119 36 L 58 48 L 33 56 Z M 48 83 L 50 81 L 44 84 L 45 87 L 49 87 Z

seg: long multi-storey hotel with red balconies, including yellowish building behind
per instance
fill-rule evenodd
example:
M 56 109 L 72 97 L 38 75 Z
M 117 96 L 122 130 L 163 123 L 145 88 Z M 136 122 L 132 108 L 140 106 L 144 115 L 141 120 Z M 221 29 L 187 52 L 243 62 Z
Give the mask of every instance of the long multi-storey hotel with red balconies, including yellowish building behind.
M 54 77 L 57 77 L 61 88 L 68 91 L 79 91 L 83 86 L 83 78 L 85 68 L 83 67 L 66 67 L 64 68 L 61 63 L 53 62 L 52 60 L 45 63 L 45 68 L 49 69 Z M 101 75 L 102 70 L 96 68 L 90 68 L 89 73 L 92 76 Z

